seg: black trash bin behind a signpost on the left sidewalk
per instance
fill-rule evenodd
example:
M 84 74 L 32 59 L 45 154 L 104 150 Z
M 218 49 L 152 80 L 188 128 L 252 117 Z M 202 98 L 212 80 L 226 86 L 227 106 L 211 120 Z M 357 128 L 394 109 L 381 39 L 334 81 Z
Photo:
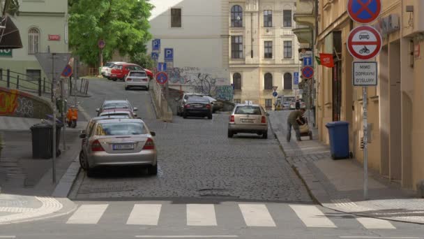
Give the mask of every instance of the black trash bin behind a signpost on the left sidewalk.
M 61 154 L 59 150 L 61 128 L 63 124 L 56 123 L 56 156 Z M 53 147 L 53 125 L 35 124 L 31 126 L 32 157 L 33 159 L 52 158 Z

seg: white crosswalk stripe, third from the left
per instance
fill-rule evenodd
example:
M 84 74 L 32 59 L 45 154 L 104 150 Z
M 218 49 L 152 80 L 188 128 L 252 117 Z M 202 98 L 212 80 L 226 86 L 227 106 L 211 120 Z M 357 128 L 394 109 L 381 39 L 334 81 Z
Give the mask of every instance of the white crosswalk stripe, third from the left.
M 217 226 L 215 205 L 187 204 L 188 226 Z

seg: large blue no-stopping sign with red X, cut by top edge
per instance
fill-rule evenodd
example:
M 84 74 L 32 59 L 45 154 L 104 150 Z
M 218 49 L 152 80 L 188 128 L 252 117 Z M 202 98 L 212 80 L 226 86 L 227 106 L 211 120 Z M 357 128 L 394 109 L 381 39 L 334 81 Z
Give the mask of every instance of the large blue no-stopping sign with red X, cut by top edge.
M 349 0 L 347 13 L 355 22 L 361 24 L 374 22 L 381 13 L 381 0 Z

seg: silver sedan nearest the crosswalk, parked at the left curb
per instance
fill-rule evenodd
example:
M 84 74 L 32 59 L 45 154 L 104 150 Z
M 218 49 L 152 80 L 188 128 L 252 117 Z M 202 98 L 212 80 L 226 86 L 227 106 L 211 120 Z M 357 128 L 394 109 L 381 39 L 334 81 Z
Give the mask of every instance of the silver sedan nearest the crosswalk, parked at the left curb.
M 100 119 L 79 136 L 86 138 L 79 155 L 81 167 L 89 177 L 100 166 L 146 166 L 149 174 L 156 175 L 155 135 L 142 119 Z

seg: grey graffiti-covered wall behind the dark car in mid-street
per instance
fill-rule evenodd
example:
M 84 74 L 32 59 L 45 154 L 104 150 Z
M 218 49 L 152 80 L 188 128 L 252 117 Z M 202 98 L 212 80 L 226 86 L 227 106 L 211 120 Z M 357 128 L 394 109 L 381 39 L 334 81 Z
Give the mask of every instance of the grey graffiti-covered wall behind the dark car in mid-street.
M 169 85 L 187 92 L 211 94 L 216 99 L 232 101 L 233 88 L 228 71 L 220 68 L 175 67 L 168 73 Z

